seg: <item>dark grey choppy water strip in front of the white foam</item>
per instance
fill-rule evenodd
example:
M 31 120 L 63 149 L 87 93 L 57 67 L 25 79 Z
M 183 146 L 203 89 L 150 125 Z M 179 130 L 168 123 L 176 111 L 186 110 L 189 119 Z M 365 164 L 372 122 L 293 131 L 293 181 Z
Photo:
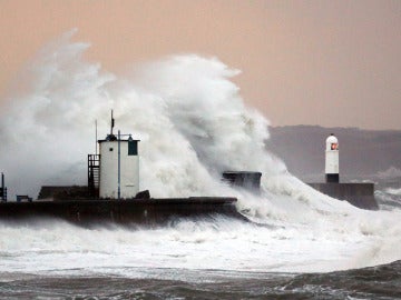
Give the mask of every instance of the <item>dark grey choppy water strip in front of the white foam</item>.
M 162 274 L 172 279 L 158 279 Z M 46 273 L 2 273 L 1 278 L 2 299 L 401 298 L 401 261 L 329 273 L 153 269 L 144 278 Z

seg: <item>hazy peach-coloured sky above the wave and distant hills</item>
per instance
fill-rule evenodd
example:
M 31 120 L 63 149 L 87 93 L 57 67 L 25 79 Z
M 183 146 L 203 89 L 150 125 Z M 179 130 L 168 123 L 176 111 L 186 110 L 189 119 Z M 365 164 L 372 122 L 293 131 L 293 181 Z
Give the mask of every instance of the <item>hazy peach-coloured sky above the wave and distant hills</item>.
M 111 72 L 176 53 L 242 70 L 273 126 L 401 129 L 401 1 L 0 0 L 0 94 L 48 41 L 78 28 Z

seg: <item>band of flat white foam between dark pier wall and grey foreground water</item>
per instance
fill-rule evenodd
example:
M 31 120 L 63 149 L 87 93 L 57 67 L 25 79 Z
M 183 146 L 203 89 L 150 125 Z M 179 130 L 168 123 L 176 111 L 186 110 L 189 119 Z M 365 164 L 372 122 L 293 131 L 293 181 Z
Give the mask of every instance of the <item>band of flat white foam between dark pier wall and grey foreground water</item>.
M 327 272 L 399 259 L 397 209 L 364 211 L 332 200 L 345 208 L 312 213 L 288 202 L 296 210 L 276 213 L 272 220 L 261 213 L 262 198 L 257 206 L 242 201 L 238 209 L 254 222 L 221 216 L 172 220 L 153 229 L 116 224 L 88 229 L 61 220 L 0 222 L 2 271 L 129 278 L 160 269 Z M 162 272 L 160 279 L 172 279 L 168 276 Z

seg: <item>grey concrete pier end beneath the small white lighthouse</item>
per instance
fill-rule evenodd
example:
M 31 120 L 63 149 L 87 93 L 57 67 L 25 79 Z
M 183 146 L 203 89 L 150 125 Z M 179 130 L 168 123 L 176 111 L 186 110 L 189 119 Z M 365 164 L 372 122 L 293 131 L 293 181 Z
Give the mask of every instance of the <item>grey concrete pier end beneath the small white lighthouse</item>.
M 354 207 L 379 210 L 374 199 L 373 183 L 307 183 L 315 190 L 339 200 L 346 200 Z

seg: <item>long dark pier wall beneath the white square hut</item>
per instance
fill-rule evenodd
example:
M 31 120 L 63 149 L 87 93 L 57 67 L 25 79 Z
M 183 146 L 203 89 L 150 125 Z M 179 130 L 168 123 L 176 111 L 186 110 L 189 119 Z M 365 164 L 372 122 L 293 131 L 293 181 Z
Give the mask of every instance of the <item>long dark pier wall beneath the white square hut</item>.
M 222 214 L 245 219 L 235 208 L 236 198 L 189 197 L 130 200 L 59 200 L 0 203 L 0 220 L 20 221 L 56 218 L 82 226 L 99 222 L 163 226 L 180 218 Z

